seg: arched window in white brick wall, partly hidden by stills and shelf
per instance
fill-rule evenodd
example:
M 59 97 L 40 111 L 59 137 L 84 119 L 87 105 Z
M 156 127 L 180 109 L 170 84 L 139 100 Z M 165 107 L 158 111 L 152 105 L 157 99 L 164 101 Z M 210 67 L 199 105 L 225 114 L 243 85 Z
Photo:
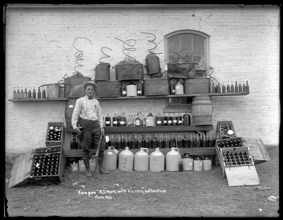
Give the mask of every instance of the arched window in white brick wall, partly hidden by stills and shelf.
M 176 60 L 174 54 L 180 54 Z M 165 36 L 165 60 L 172 62 L 196 62 L 196 76 L 205 76 L 209 66 L 209 35 L 193 30 L 182 30 Z M 168 100 L 164 112 L 190 111 L 192 98 L 172 98 Z

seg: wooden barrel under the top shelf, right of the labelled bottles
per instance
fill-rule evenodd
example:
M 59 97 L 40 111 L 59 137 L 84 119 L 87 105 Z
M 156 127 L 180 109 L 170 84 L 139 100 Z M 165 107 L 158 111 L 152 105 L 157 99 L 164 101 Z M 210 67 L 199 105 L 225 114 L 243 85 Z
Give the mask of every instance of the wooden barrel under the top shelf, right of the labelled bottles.
M 212 124 L 212 103 L 209 96 L 196 96 L 192 102 L 194 125 Z

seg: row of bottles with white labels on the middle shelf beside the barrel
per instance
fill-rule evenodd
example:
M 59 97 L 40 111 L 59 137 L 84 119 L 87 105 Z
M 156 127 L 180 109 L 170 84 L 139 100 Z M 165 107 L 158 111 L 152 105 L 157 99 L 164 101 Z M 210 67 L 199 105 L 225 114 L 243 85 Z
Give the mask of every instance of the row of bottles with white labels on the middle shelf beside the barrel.
M 117 115 L 116 113 L 111 118 L 109 114 L 105 117 L 105 127 L 135 127 L 135 126 L 180 126 L 180 125 L 191 125 L 191 116 L 188 112 L 186 112 L 183 116 L 181 113 L 176 115 L 170 113 L 166 115 L 165 113 L 163 116 L 161 114 L 157 114 L 153 116 L 152 113 L 149 113 L 147 117 L 140 112 L 137 113 L 136 116 L 128 115 L 126 116 L 125 113 L 122 115 Z

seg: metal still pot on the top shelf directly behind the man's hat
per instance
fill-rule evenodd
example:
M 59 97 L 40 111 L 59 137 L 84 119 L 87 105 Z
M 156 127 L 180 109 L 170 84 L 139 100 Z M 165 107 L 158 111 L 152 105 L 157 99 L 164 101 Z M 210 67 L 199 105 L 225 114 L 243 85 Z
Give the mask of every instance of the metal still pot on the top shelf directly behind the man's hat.
M 64 97 L 65 98 L 80 98 L 85 96 L 82 84 L 90 81 L 91 78 L 84 76 L 72 76 L 64 79 Z

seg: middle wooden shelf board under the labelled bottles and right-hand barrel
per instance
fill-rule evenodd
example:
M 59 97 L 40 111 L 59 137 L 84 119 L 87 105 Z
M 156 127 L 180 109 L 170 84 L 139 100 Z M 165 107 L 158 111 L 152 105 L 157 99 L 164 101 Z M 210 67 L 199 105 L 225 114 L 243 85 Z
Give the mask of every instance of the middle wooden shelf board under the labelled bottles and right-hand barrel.
M 213 130 L 213 125 L 190 125 L 190 126 L 153 126 L 153 127 L 104 127 L 107 133 L 133 133 L 133 132 L 182 132 L 182 131 L 207 131 Z M 72 127 L 66 127 L 66 132 L 72 133 Z

